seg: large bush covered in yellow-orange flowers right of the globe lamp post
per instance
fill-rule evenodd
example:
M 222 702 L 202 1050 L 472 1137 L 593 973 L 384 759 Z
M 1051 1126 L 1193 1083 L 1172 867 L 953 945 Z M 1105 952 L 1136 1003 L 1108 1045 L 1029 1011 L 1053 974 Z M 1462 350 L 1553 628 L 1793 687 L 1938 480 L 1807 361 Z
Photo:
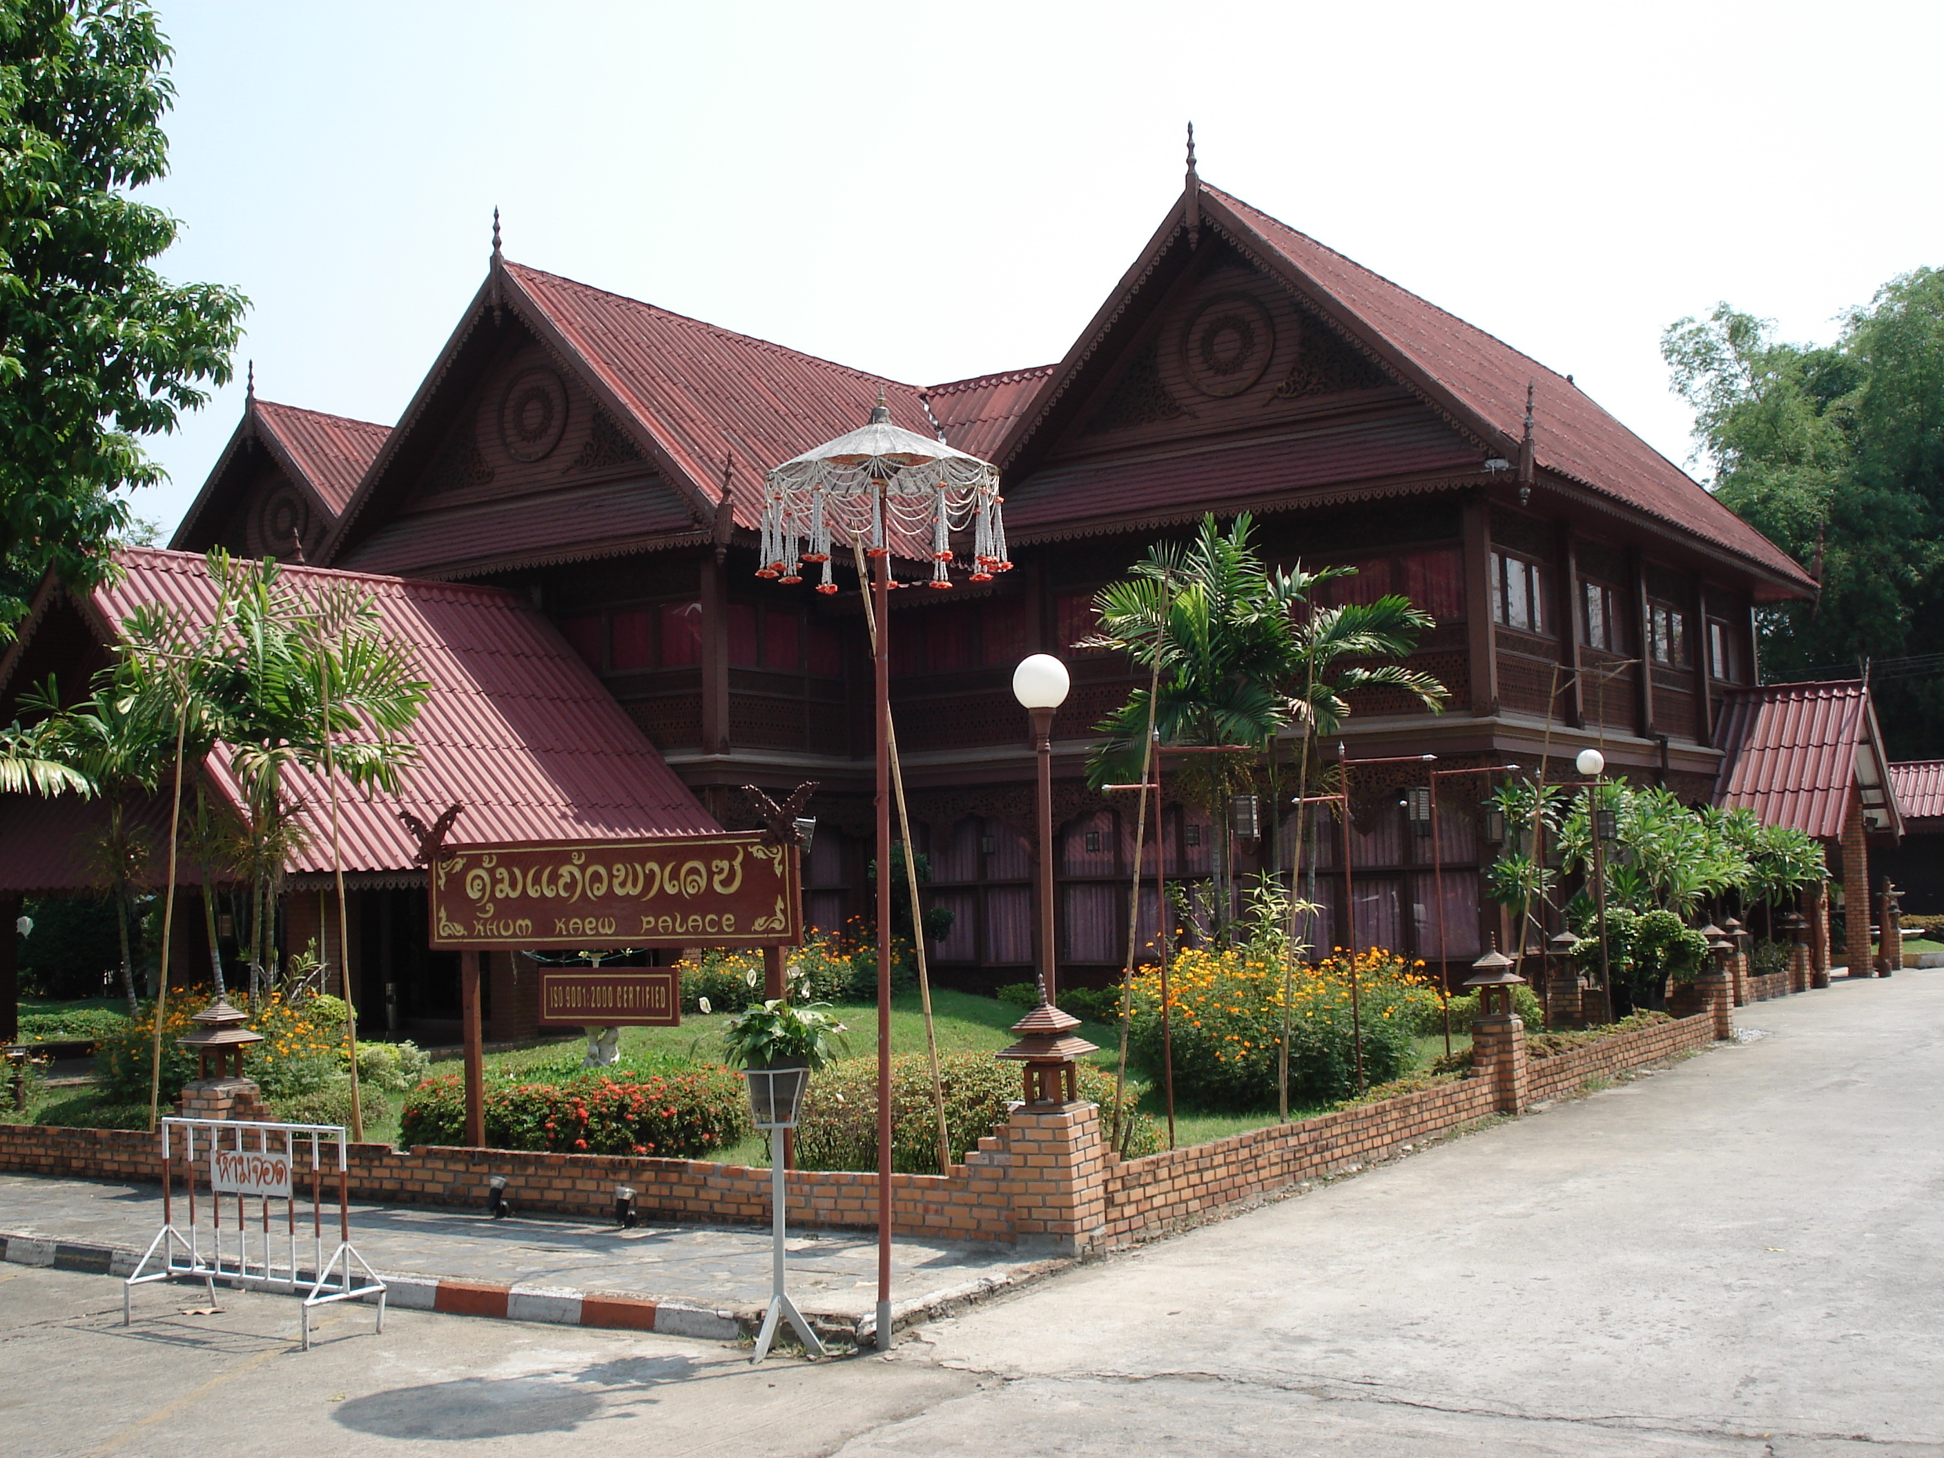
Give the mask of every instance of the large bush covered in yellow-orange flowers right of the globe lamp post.
M 1437 993 L 1380 947 L 1357 956 L 1365 1083 L 1386 1083 L 1415 1056 L 1413 1038 Z M 1182 951 L 1168 968 L 1174 1094 L 1207 1110 L 1271 1108 L 1277 1098 L 1283 968 L 1246 949 Z M 1357 1089 L 1351 968 L 1299 966 L 1289 1007 L 1289 1100 L 1334 1104 Z M 1133 1046 L 1161 1067 L 1161 974 L 1133 984 Z

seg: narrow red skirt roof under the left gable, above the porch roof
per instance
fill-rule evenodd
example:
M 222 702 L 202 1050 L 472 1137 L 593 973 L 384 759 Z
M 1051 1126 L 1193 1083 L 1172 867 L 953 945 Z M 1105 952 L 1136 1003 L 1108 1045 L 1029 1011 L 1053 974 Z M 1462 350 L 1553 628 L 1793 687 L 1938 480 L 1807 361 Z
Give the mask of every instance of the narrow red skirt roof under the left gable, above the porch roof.
M 457 577 L 515 562 L 538 566 L 618 556 L 694 531 L 694 515 L 669 486 L 624 480 L 447 505 L 435 515 L 393 517 L 336 566 Z

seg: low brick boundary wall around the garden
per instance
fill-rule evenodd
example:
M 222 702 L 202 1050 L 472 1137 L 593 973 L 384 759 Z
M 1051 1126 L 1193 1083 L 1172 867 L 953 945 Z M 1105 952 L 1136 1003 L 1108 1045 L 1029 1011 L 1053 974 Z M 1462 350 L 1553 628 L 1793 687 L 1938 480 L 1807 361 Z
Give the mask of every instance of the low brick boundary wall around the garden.
M 1724 982 L 1720 997 L 1726 995 Z M 1056 1254 L 1129 1244 L 1238 1199 L 1384 1159 L 1402 1145 L 1491 1114 L 1516 1114 L 1590 1079 L 1705 1048 L 1717 1030 L 1713 1011 L 1701 1011 L 1553 1058 L 1528 1058 L 1518 1019 L 1481 1021 L 1474 1026 L 1475 1077 L 1133 1161 L 1118 1161 L 1104 1149 L 1093 1104 L 1019 1108 L 949 1174 L 892 1174 L 892 1221 L 900 1234 L 1011 1242 Z M 0 1170 L 159 1182 L 161 1157 L 156 1137 L 142 1131 L 14 1124 L 0 1126 Z M 649 1219 L 762 1225 L 770 1217 L 766 1168 L 626 1155 L 350 1147 L 354 1199 L 484 1209 L 490 1174 L 505 1176 L 515 1213 L 607 1221 L 614 1186 L 630 1184 L 636 1207 Z M 875 1219 L 877 1174 L 789 1174 L 791 1225 L 871 1229 Z

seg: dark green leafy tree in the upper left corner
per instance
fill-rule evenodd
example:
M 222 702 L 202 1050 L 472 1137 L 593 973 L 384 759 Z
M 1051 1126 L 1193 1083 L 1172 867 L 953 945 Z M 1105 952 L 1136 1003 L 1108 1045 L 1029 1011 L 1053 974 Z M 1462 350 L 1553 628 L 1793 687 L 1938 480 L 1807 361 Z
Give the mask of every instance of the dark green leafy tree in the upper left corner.
M 169 167 L 167 62 L 142 4 L 0 0 L 0 624 L 47 568 L 107 572 L 163 478 L 140 437 L 229 379 L 243 295 L 163 282 L 179 224 L 128 196 Z

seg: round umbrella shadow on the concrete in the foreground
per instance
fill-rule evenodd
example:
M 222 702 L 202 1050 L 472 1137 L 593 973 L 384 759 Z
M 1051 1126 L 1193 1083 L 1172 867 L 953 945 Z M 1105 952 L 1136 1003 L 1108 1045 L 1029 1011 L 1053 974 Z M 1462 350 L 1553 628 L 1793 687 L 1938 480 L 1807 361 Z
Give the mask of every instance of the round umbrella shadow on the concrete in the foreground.
M 657 1386 L 694 1374 L 690 1357 L 622 1357 L 579 1372 L 391 1388 L 340 1404 L 332 1419 L 356 1433 L 434 1442 L 573 1433 L 581 1423 L 630 1417 L 628 1407 L 657 1402 Z

